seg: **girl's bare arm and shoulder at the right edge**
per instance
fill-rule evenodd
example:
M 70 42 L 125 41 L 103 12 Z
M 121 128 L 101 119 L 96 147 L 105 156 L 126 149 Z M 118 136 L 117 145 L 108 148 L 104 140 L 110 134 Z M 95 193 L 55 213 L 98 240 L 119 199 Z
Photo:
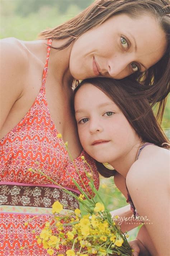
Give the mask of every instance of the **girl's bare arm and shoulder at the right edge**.
M 152 154 L 152 161 L 150 157 L 132 165 L 126 184 L 137 212 L 144 218 L 156 255 L 169 255 L 169 151 L 159 148 Z

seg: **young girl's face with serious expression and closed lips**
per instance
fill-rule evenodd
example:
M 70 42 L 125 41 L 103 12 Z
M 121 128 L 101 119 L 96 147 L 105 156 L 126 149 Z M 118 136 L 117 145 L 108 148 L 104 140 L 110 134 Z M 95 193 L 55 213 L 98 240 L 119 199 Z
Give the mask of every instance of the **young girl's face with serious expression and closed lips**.
M 77 91 L 75 116 L 82 147 L 98 162 L 113 165 L 139 143 L 122 111 L 94 85 L 84 84 Z

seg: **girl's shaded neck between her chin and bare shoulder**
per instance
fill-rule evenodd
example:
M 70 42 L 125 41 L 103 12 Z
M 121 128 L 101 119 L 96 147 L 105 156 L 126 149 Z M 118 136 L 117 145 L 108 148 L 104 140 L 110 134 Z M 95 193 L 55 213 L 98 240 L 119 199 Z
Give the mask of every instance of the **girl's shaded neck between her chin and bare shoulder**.
M 133 165 L 133 163 L 137 160 L 138 151 L 140 150 L 141 146 L 143 145 L 142 142 L 137 143 L 134 145 L 129 152 L 123 157 L 116 159 L 110 165 L 119 172 L 125 179 L 128 174 L 129 169 Z

